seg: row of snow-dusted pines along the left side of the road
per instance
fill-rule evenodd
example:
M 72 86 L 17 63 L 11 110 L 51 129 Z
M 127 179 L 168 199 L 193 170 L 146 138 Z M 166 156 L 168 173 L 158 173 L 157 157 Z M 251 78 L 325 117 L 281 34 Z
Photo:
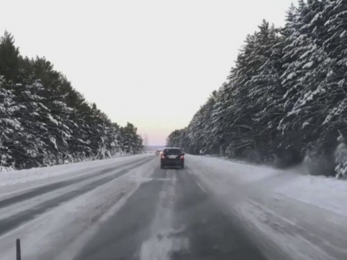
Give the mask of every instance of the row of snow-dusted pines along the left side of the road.
M 131 123 L 120 127 L 85 101 L 45 58 L 19 54 L 0 38 L 0 168 L 31 168 L 139 153 Z

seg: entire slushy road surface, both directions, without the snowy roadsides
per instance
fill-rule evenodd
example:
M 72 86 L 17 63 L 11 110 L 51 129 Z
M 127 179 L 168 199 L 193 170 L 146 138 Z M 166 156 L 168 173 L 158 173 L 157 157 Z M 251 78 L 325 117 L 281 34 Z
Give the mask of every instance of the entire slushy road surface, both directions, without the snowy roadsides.
M 185 169 L 160 169 L 158 156 L 147 155 L 5 193 L 0 196 L 1 259 L 15 259 L 17 237 L 24 260 L 265 259 L 189 167 L 187 162 Z M 146 181 L 139 182 L 139 175 Z M 135 188 L 130 179 L 137 180 Z M 117 182 L 124 191 L 112 193 Z M 107 200 L 83 199 L 94 190 L 106 193 Z M 90 200 L 81 210 L 90 219 L 78 210 L 62 213 L 65 205 L 81 207 L 81 200 Z

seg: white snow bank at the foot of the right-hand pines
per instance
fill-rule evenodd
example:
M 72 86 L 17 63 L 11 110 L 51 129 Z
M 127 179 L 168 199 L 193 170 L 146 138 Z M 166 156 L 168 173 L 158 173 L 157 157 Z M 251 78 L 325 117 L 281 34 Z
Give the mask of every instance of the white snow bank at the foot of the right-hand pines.
M 220 180 L 271 188 L 273 194 L 287 196 L 347 217 L 347 182 L 335 177 L 308 175 L 304 168 L 280 170 L 249 165 L 218 157 L 189 157 L 217 173 Z

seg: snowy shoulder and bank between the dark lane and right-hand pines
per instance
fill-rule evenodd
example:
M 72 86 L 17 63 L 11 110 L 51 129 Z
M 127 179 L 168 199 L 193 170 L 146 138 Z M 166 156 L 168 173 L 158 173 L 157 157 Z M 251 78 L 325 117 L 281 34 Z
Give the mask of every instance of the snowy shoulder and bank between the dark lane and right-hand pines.
M 270 259 L 347 259 L 347 182 L 214 157 L 187 157 L 201 184 Z M 278 249 L 278 250 L 276 250 Z

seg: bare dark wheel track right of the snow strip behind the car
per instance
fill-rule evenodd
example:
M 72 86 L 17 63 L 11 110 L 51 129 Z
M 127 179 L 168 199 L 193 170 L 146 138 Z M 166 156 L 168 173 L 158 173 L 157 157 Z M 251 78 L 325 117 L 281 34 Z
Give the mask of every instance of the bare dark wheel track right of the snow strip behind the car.
M 170 260 L 265 260 L 259 248 L 224 214 L 191 172 L 189 164 L 177 171 L 174 211 L 174 225 L 180 230 L 176 236 L 189 239 L 189 247 L 171 252 Z

